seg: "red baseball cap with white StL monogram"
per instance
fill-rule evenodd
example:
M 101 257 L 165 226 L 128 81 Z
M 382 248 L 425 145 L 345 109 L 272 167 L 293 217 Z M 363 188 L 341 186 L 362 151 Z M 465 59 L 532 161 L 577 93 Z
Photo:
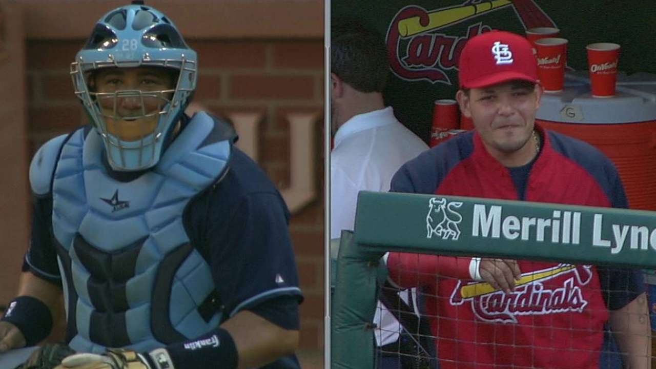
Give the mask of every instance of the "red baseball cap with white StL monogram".
M 460 54 L 461 89 L 478 89 L 514 79 L 537 83 L 531 43 L 511 32 L 491 31 L 469 39 Z

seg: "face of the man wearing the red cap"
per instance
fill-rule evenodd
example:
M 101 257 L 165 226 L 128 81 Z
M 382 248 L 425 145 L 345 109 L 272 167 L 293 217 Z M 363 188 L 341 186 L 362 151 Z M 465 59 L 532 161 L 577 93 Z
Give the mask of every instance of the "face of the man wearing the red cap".
M 522 81 L 457 94 L 462 113 L 472 118 L 488 149 L 501 154 L 520 150 L 531 138 L 541 96 L 540 85 Z

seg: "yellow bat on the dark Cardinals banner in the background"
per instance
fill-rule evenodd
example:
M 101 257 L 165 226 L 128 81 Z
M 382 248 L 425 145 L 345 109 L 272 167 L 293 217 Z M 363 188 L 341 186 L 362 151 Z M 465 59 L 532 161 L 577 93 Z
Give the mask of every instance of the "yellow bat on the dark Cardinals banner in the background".
M 510 0 L 493 0 L 485 1 L 476 5 L 466 5 L 451 9 L 440 9 L 428 13 L 428 25 L 422 26 L 419 22 L 419 16 L 403 19 L 399 21 L 399 34 L 401 37 L 417 35 L 418 33 L 434 30 L 443 26 L 448 26 L 455 22 L 460 22 L 472 16 L 483 14 L 506 5 L 512 5 Z

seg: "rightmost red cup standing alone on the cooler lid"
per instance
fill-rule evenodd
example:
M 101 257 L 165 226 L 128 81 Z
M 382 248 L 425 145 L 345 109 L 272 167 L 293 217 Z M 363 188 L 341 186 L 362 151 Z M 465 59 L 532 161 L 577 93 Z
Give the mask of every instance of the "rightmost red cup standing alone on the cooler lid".
M 620 46 L 617 43 L 600 42 L 591 43 L 585 48 L 588 50 L 592 97 L 615 96 Z

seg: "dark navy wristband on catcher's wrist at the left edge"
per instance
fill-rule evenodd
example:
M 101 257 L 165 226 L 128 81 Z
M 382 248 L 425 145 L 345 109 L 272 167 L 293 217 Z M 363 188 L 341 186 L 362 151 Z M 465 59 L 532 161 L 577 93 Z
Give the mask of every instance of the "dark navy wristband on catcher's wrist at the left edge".
M 14 324 L 25 337 L 28 346 L 43 341 L 52 330 L 52 314 L 49 307 L 43 301 L 31 296 L 19 296 L 13 299 L 1 320 Z

